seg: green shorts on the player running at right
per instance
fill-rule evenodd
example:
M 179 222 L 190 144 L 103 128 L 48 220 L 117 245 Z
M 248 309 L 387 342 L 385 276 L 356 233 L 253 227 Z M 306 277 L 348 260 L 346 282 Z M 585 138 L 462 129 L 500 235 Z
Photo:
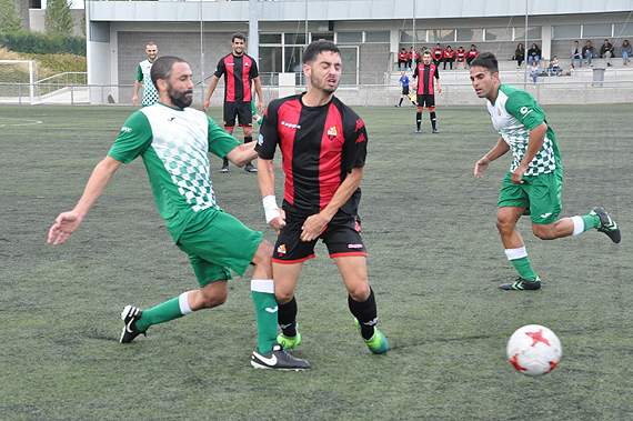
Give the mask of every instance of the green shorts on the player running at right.
M 523 184 L 512 184 L 512 172 L 508 172 L 499 193 L 499 208 L 524 208 L 532 223 L 547 224 L 554 222 L 563 206 L 561 188 L 563 170 L 556 169 L 546 174 L 525 176 Z

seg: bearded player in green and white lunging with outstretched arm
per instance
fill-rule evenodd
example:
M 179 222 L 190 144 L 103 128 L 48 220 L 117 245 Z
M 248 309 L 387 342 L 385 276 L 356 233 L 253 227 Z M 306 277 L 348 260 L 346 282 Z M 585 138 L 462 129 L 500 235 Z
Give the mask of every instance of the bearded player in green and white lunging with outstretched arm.
M 251 290 L 258 332 L 277 335 L 277 301 L 272 280 L 272 245 L 224 213 L 215 202 L 209 178 L 209 152 L 239 167 L 257 157 L 255 142 L 240 144 L 207 114 L 189 108 L 191 69 L 175 57 L 158 59 L 151 70 L 159 102 L 134 112 L 117 141 L 92 172 L 83 196 L 70 212 L 61 213 L 49 231 L 49 243 L 61 244 L 77 230 L 121 163 L 141 157 L 161 217 L 175 244 L 189 254 L 200 289 L 142 311 L 127 305 L 120 341 L 131 342 L 152 325 L 193 311 L 222 304 L 228 294 L 229 269 L 240 275 L 253 264 Z M 265 334 L 262 334 L 265 333 Z M 260 343 L 259 353 L 273 360 L 272 369 L 303 370 L 310 365 L 279 344 Z

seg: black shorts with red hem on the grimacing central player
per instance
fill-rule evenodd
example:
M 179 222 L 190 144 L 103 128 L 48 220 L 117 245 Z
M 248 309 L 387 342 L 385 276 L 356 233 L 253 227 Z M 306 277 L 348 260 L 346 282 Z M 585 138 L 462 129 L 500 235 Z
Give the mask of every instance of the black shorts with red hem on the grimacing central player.
M 361 220 L 356 217 L 335 215 L 318 239 L 301 241 L 301 231 L 307 217 L 293 214 L 285 209 L 285 227 L 279 231 L 272 261 L 277 263 L 300 263 L 314 258 L 314 245 L 321 239 L 328 247 L 330 258 L 342 255 L 368 255 L 361 238 Z

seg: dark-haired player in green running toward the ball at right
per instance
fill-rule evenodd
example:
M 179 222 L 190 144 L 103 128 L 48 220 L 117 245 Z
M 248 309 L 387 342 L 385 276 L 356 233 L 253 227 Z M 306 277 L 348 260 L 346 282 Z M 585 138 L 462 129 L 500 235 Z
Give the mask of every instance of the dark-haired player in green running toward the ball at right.
M 516 229 L 521 215 L 531 215 L 532 231 L 543 240 L 577 235 L 596 228 L 617 243 L 620 229 L 602 208 L 594 208 L 586 215 L 556 220 L 562 210 L 563 167 L 545 113 L 530 93 L 501 84 L 494 54 L 479 54 L 471 62 L 470 73 L 478 97 L 488 99 L 492 123 L 501 134 L 496 146 L 476 162 L 474 176 L 481 179 L 490 162 L 510 150 L 514 158 L 501 188 L 496 228 L 519 278 L 500 288 L 537 290 L 541 281 Z

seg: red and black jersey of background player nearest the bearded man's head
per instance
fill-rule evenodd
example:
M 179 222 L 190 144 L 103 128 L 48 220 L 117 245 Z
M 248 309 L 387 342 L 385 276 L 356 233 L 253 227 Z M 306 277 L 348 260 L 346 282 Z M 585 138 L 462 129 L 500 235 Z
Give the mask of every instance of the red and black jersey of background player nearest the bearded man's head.
M 221 78 L 224 74 L 224 101 L 250 102 L 252 100 L 251 80 L 259 77 L 258 63 L 247 54 L 224 56 L 218 62 L 215 77 Z

